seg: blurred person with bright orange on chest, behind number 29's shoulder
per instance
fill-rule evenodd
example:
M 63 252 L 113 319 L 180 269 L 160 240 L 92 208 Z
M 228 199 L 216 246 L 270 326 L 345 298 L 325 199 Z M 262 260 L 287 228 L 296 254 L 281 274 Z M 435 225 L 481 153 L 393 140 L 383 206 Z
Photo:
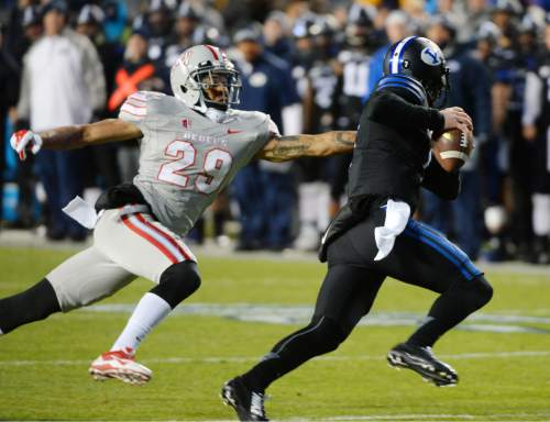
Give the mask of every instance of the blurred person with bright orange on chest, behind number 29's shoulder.
M 114 76 L 113 92 L 107 103 L 108 111 L 118 114 L 120 106 L 135 91 L 165 91 L 166 84 L 147 56 L 148 43 L 145 30 L 134 31 L 127 43 L 122 66 Z M 118 167 L 122 181 L 132 181 L 138 174 L 140 148 L 135 143 L 125 142 L 118 146 Z

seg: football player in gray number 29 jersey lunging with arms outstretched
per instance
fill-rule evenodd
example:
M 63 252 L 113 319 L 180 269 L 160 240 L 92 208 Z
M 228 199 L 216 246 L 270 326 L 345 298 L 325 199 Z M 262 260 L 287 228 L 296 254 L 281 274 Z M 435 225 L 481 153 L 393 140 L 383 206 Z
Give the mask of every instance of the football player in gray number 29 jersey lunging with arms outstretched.
M 90 366 L 96 379 L 143 384 L 152 371 L 134 360 L 143 338 L 200 285 L 197 259 L 184 243 L 202 211 L 253 158 L 284 162 L 353 148 L 355 132 L 280 136 L 270 116 L 237 111 L 240 79 L 211 45 L 185 51 L 170 73 L 174 97 L 135 92 L 119 119 L 34 133 L 19 131 L 11 146 L 24 159 L 41 147 L 78 148 L 140 140 L 133 184 L 108 189 L 87 215 L 94 244 L 30 289 L 0 300 L 0 334 L 109 297 L 136 277 L 155 286 L 138 303 L 109 352 Z M 69 211 L 70 212 L 70 211 Z

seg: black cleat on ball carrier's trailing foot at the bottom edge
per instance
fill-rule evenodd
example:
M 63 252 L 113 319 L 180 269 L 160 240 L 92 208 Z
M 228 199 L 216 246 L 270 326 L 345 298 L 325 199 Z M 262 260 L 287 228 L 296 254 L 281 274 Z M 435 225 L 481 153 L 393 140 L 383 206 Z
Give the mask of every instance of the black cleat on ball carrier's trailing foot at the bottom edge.
M 226 382 L 221 399 L 235 410 L 240 421 L 268 421 L 264 410 L 264 393 L 250 390 L 241 377 Z

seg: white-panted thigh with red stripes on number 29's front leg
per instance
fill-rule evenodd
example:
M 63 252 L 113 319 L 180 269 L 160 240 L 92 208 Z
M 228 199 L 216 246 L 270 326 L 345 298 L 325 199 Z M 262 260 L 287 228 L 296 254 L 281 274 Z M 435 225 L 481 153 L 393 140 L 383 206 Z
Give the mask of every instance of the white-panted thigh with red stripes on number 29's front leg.
M 105 211 L 94 232 L 94 244 L 128 271 L 154 282 L 173 264 L 197 262 L 182 237 L 147 213 Z

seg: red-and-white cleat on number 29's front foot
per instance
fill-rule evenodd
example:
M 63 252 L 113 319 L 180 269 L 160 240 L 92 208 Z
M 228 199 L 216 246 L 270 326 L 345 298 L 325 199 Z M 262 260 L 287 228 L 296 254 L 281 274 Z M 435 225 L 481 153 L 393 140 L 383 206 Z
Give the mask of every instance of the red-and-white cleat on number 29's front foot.
M 153 376 L 151 369 L 138 364 L 133 354 L 124 351 L 102 353 L 91 363 L 88 371 L 98 381 L 117 378 L 133 385 L 145 384 Z

